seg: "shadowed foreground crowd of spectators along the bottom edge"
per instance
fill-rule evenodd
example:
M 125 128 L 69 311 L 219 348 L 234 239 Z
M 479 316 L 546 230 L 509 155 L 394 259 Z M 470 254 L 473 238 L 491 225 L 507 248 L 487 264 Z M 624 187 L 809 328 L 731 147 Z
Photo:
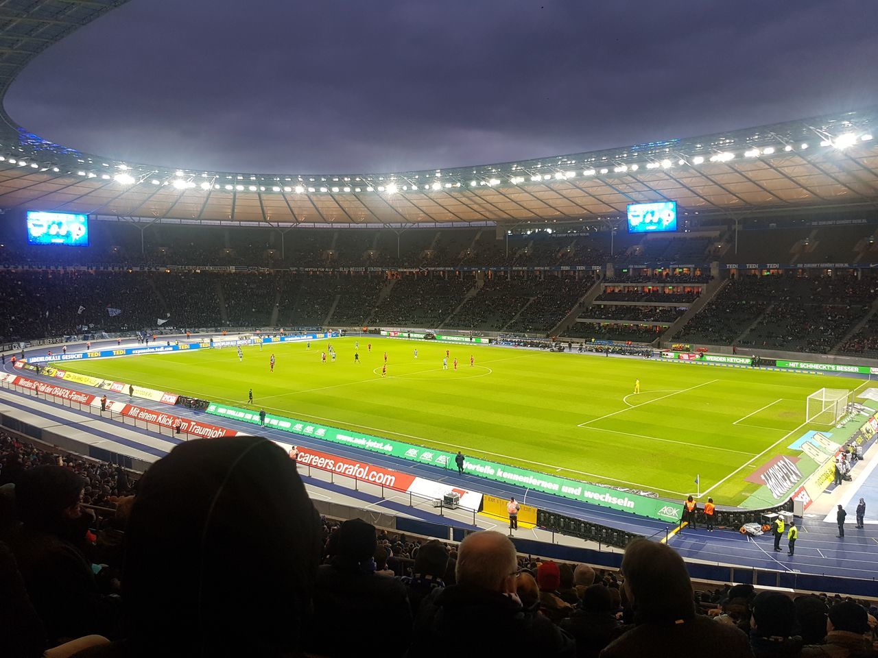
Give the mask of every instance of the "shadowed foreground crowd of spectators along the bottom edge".
M 502 533 L 452 544 L 320 518 L 295 462 L 257 437 L 175 447 L 133 496 L 107 497 L 104 519 L 82 505 L 103 465 L 2 445 L 24 458 L 0 469 L 8 658 L 874 658 L 878 646 L 867 603 L 698 590 L 659 542 L 631 541 L 614 572 L 516 554 Z

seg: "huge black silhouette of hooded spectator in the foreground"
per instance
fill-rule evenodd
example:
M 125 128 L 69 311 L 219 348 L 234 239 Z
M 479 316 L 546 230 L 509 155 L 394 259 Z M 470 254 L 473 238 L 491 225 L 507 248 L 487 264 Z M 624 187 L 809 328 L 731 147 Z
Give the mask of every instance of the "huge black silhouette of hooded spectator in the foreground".
M 77 658 L 300 655 L 320 518 L 284 450 L 189 441 L 141 479 L 126 527 L 125 640 Z

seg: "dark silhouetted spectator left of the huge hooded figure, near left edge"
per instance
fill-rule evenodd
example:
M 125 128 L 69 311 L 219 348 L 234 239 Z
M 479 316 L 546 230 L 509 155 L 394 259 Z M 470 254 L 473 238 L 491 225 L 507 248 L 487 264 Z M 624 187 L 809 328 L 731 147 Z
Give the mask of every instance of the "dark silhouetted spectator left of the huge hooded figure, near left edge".
M 18 570 L 50 642 L 118 637 L 119 597 L 103 594 L 83 553 L 85 481 L 69 468 L 31 468 L 15 487 L 21 527 L 11 540 Z

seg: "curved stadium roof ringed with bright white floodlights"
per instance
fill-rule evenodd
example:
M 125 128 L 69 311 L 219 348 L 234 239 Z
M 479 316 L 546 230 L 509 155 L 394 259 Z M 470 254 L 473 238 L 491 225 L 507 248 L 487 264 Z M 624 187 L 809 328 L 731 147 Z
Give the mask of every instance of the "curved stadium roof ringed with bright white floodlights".
M 31 59 L 127 0 L 0 4 L 0 97 Z M 692 108 L 693 112 L 698 111 Z M 442 170 L 254 174 L 79 153 L 0 113 L 0 207 L 272 225 L 594 221 L 631 203 L 741 217 L 878 207 L 878 108 L 594 151 Z

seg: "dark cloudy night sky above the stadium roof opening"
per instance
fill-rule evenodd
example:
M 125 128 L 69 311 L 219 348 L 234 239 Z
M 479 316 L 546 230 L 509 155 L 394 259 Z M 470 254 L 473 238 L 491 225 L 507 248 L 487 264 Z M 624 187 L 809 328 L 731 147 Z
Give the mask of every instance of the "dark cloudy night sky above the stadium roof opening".
M 874 0 L 132 0 L 5 104 L 128 161 L 405 171 L 878 104 L 876 28 Z

